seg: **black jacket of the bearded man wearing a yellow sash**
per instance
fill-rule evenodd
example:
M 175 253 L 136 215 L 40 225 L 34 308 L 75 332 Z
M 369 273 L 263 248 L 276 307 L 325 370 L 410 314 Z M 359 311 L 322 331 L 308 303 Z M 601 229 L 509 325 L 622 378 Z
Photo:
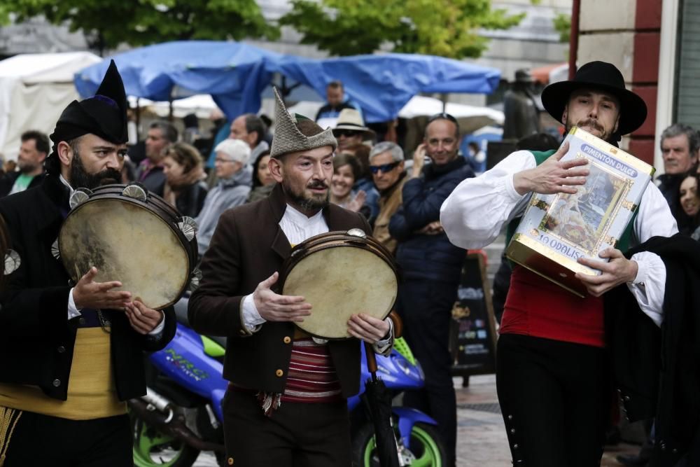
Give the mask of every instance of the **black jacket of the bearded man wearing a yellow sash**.
M 72 287 L 61 260 L 51 253 L 58 237 L 68 190 L 57 176 L 30 190 L 0 200 L 11 248 L 21 258 L 0 293 L 0 381 L 41 387 L 66 400 L 79 319 L 68 320 Z M 142 350 L 165 347 L 175 334 L 172 307 L 158 340 L 134 331 L 122 312 L 112 312 L 111 352 L 120 400 L 146 393 Z

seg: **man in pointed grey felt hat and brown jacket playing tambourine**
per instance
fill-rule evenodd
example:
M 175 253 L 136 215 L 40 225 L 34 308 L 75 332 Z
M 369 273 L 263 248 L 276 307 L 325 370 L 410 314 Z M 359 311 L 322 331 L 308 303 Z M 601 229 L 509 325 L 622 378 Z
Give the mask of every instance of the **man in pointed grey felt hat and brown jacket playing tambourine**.
M 323 341 L 295 328 L 313 313 L 276 286 L 292 246 L 324 232 L 359 228 L 360 214 L 328 202 L 337 145 L 330 130 L 290 116 L 275 90 L 264 200 L 225 211 L 202 259 L 188 317 L 197 332 L 228 335 L 223 376 L 228 463 L 236 466 L 349 466 L 346 399 L 358 393 L 360 340 L 391 349 L 391 321 L 355 314 L 355 339 Z

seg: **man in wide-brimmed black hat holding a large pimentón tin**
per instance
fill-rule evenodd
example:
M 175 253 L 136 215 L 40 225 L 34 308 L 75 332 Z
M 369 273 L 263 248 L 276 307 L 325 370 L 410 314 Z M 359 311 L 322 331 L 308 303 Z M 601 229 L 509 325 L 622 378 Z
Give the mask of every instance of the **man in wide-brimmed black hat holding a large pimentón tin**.
M 605 62 L 584 64 L 573 80 L 547 86 L 542 104 L 566 130 L 577 126 L 614 146 L 623 134 L 638 129 L 647 114 L 643 99 L 626 90 L 622 74 Z M 517 225 L 532 193 L 576 193 L 589 168 L 584 158 L 561 162 L 567 150 L 568 144 L 556 151 L 517 151 L 461 183 L 441 209 L 451 242 L 482 248 L 507 224 Z M 653 183 L 629 229 L 636 244 L 678 232 Z M 622 284 L 631 292 L 629 300 L 638 303 L 640 316 L 659 325 L 664 313 L 664 262 L 649 251 L 627 257 L 620 251 L 626 248 L 621 244 L 603 251 L 608 263 L 579 260 L 602 272 L 577 274 L 587 286 L 587 298 L 514 267 L 496 362 L 498 399 L 514 463 L 600 463 L 611 387 L 601 296 Z

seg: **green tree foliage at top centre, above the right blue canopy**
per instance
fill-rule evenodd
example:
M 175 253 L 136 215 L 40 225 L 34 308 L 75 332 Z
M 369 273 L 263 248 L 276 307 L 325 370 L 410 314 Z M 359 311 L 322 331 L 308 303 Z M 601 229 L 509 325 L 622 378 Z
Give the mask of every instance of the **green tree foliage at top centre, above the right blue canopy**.
M 507 29 L 524 13 L 491 9 L 491 0 L 292 0 L 280 25 L 294 27 L 302 43 L 331 55 L 393 52 L 479 57 L 488 39 L 478 29 Z

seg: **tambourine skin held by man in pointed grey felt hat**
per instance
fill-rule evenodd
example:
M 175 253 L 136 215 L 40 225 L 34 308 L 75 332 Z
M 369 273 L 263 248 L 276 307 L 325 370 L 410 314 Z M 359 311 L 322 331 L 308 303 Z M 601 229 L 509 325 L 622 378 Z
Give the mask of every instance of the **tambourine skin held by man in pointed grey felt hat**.
M 286 272 L 282 293 L 302 295 L 313 307 L 311 315 L 297 323 L 302 330 L 325 339 L 344 339 L 351 337 L 347 332 L 351 315 L 363 312 L 386 318 L 396 300 L 398 279 L 391 256 L 376 246 L 331 243 L 304 253 Z

